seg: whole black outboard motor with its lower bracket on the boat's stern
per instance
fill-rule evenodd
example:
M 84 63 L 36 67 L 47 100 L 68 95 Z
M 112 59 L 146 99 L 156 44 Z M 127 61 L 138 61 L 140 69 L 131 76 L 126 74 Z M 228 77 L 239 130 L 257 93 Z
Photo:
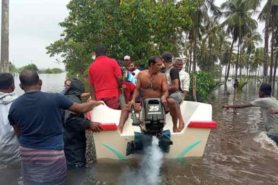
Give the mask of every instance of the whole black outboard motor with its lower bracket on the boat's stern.
M 160 98 L 148 98 L 142 104 L 139 119 L 136 117 L 135 108 L 131 106 L 132 125 L 138 126 L 140 132 L 135 132 L 135 139 L 127 143 L 126 156 L 142 153 L 143 149 L 152 143 L 152 136 L 159 140 L 159 147 L 163 152 L 170 151 L 170 130 L 163 131 L 165 126 L 165 108 Z

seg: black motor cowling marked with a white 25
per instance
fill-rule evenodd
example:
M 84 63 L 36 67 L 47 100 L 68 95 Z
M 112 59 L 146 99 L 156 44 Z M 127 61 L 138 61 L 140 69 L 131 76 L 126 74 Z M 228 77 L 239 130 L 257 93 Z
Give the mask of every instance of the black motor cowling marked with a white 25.
M 143 122 L 143 131 L 157 136 L 163 132 L 165 126 L 165 108 L 160 98 L 148 98 L 144 100 L 140 113 Z

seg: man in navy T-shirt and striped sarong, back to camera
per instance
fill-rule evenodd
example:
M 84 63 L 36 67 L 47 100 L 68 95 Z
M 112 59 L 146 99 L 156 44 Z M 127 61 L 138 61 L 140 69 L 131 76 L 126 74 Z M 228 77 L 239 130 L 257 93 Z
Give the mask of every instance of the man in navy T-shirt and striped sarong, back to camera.
M 63 184 L 67 166 L 60 110 L 86 113 L 102 102 L 76 104 L 59 93 L 43 93 L 33 70 L 21 72 L 19 80 L 24 95 L 10 106 L 8 120 L 19 140 L 24 185 Z

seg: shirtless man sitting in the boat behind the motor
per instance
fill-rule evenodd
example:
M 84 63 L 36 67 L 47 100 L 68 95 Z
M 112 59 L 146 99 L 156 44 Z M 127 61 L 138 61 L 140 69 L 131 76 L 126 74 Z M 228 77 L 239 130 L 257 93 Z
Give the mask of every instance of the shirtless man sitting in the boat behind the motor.
M 120 117 L 120 124 L 118 129 L 122 134 L 124 129 L 124 123 L 129 118 L 129 112 L 131 111 L 131 105 L 135 106 L 136 112 L 140 111 L 140 104 L 136 104 L 136 99 L 139 97 L 140 88 L 143 90 L 143 98 L 149 97 L 161 97 L 161 101 L 164 106 L 167 106 L 168 88 L 167 79 L 165 74 L 160 72 L 162 68 L 162 58 L 160 56 L 152 56 L 148 62 L 149 70 L 139 72 L 136 90 L 133 93 L 133 98 L 129 104 L 126 104 L 122 108 L 122 114 Z M 174 127 L 177 127 L 175 125 Z

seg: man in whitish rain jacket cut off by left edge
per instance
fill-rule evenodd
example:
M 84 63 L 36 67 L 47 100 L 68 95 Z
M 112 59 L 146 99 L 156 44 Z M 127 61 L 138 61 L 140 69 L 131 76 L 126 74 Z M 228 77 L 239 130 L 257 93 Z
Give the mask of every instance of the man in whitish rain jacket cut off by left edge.
M 0 163 L 15 163 L 20 160 L 17 136 L 8 121 L 10 105 L 17 98 L 14 90 L 13 75 L 0 73 Z

